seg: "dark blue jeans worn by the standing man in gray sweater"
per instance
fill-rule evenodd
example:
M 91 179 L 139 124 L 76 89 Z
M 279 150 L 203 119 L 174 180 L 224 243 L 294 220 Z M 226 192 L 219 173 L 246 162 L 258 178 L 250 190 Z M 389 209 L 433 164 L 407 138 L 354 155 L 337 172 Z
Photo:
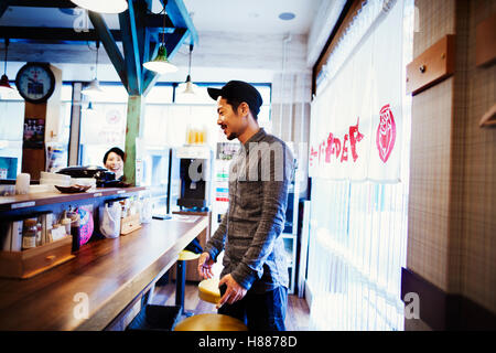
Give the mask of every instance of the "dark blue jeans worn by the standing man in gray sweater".
M 220 287 L 224 296 L 226 286 Z M 288 288 L 277 287 L 265 293 L 251 293 L 233 304 L 225 303 L 218 313 L 241 320 L 249 331 L 285 331 L 284 319 L 288 306 Z

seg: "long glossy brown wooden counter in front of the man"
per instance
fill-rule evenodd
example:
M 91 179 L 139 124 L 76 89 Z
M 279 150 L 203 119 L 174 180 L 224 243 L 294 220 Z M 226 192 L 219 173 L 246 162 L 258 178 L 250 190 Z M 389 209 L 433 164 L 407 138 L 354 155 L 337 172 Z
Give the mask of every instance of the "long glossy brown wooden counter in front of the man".
M 0 279 L 0 330 L 105 329 L 207 225 L 202 216 L 152 220 L 126 236 L 90 242 L 75 259 L 34 278 Z

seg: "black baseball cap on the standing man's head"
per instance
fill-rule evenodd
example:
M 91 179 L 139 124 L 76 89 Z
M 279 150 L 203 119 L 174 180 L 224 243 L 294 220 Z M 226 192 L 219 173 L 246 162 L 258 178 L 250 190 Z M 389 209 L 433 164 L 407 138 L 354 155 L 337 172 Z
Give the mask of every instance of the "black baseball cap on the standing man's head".
M 246 101 L 256 116 L 263 103 L 257 88 L 242 81 L 229 81 L 223 88 L 208 87 L 207 90 L 208 95 L 215 100 L 222 96 L 226 99 Z

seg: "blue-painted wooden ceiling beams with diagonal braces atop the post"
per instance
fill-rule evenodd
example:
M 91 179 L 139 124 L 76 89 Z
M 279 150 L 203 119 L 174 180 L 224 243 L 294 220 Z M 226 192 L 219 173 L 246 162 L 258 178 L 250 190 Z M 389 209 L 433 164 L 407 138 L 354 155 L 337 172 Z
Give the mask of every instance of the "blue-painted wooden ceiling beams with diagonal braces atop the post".
M 105 0 L 101 0 L 105 1 Z M 162 4 L 164 0 L 161 0 Z M 163 20 L 165 15 L 164 43 L 169 58 L 172 58 L 181 45 L 188 39 L 190 44 L 198 41 L 196 29 L 187 13 L 183 0 L 165 1 L 166 14 L 149 13 L 152 0 L 128 0 L 128 10 L 119 14 L 120 31 L 110 31 L 100 13 L 88 11 L 88 17 L 95 30 L 89 33 L 67 34 L 69 29 L 31 29 L 13 31 L 13 28 L 3 28 L 11 32 L 12 40 L 20 42 L 53 42 L 80 43 L 86 41 L 101 41 L 122 85 L 130 95 L 147 95 L 159 79 L 157 73 L 142 67 L 143 62 L 157 55 L 162 36 L 164 35 Z M 0 1 L 0 18 L 9 6 L 74 8 L 74 3 L 62 0 L 2 0 Z M 35 32 L 33 32 L 33 30 Z M 37 31 L 40 30 L 40 31 Z M 15 32 L 15 33 L 14 33 Z M 23 33 L 23 34 L 20 34 Z M 10 35 L 9 35 L 10 36 Z M 122 41 L 123 54 L 117 41 Z

